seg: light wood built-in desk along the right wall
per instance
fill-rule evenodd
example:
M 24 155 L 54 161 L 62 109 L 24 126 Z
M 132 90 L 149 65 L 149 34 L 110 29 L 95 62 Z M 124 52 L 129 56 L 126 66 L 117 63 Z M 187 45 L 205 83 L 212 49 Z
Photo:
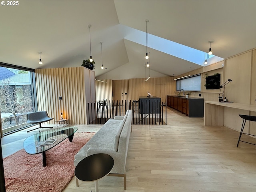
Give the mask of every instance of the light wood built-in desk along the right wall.
M 242 103 L 222 103 L 218 101 L 206 101 L 204 102 L 204 125 L 223 126 L 225 107 L 256 112 L 256 105 L 242 104 Z

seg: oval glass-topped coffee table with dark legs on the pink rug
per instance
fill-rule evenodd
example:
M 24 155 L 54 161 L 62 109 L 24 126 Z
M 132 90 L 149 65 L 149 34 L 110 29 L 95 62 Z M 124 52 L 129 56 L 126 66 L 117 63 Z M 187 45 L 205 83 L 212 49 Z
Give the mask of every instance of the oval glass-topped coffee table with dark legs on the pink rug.
M 46 166 L 46 154 L 45 152 L 54 146 L 58 145 L 60 142 L 64 141 L 66 138 L 72 142 L 74 137 L 74 132 L 78 130 L 77 127 L 62 127 L 56 129 L 49 129 L 36 133 L 29 136 L 23 142 L 24 150 L 28 154 L 38 154 L 42 153 L 43 166 Z

